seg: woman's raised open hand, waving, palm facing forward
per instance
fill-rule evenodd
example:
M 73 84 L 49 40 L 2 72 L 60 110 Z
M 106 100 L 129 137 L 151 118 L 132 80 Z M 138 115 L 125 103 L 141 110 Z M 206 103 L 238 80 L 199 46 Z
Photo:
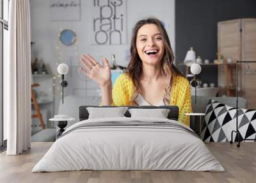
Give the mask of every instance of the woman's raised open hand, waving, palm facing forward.
M 106 58 L 102 59 L 104 67 L 89 54 L 83 54 L 80 61 L 83 67 L 79 67 L 79 70 L 93 79 L 93 81 L 99 83 L 100 87 L 111 83 L 111 69 Z

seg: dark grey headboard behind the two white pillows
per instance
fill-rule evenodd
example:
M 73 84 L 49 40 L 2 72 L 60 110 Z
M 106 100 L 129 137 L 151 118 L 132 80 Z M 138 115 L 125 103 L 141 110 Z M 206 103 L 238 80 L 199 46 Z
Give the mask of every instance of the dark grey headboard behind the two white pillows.
M 118 106 L 79 106 L 79 121 L 87 120 L 89 113 L 86 109 L 86 107 L 118 107 Z M 178 120 L 179 118 L 179 107 L 178 106 L 126 106 L 131 108 L 141 108 L 141 109 L 170 109 L 170 112 L 168 113 L 167 118 L 170 120 Z M 131 114 L 129 111 L 126 111 L 124 114 L 126 117 L 131 117 Z

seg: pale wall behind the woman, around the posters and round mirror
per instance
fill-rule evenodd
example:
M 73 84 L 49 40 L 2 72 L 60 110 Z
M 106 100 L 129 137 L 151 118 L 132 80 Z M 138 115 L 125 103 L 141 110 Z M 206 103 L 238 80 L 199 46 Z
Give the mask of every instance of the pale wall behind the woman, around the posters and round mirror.
M 90 2 L 91 1 L 91 2 Z M 32 56 L 37 56 L 39 60 L 43 60 L 51 69 L 53 75 L 56 75 L 56 62 L 61 52 L 62 62 L 70 63 L 70 60 L 77 61 L 75 46 L 66 47 L 62 45 L 60 52 L 56 50 L 59 45 L 58 35 L 61 29 L 74 29 L 77 33 L 78 43 L 77 51 L 81 54 L 90 53 L 97 60 L 102 56 L 111 59 L 111 54 L 116 55 L 118 65 L 127 65 L 125 61 L 125 51 L 129 51 L 132 28 L 140 19 L 150 16 L 163 20 L 165 28 L 170 37 L 172 48 L 175 50 L 175 0 L 127 0 L 127 44 L 126 45 L 90 45 L 89 30 L 92 24 L 92 15 L 90 15 L 90 4 L 93 0 L 81 0 L 81 20 L 80 21 L 51 21 L 51 13 L 49 5 L 50 0 L 31 0 L 31 41 L 36 42 L 33 45 Z M 72 68 L 71 68 L 72 70 Z M 74 74 L 74 71 L 73 71 Z M 68 77 L 67 77 L 68 81 Z M 76 84 L 76 86 L 74 86 Z M 76 83 L 68 81 L 68 87 L 65 88 L 65 95 L 72 95 L 74 88 L 95 88 L 95 83 L 81 81 Z M 55 88 L 56 89 L 56 88 Z M 56 92 L 57 91 L 57 92 Z M 55 109 L 58 109 L 58 101 L 60 100 L 59 90 L 55 90 L 56 95 Z M 88 95 L 90 92 L 88 92 Z M 55 110 L 56 111 L 56 110 Z

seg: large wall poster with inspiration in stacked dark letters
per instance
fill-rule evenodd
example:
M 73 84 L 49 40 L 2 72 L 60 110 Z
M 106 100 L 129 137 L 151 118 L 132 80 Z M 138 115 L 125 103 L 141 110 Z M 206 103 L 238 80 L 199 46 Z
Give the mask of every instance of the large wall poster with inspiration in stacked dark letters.
M 90 43 L 93 45 L 127 44 L 126 0 L 91 0 Z

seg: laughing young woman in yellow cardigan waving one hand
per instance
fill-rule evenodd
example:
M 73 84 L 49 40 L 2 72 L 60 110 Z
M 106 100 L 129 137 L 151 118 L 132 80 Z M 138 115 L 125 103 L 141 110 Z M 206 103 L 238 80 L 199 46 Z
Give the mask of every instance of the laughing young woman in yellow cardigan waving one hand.
M 176 105 L 179 122 L 189 126 L 185 113 L 192 111 L 190 85 L 173 65 L 173 51 L 163 24 L 154 18 L 137 22 L 130 51 L 127 72 L 116 79 L 113 90 L 108 60 L 103 58 L 102 67 L 92 56 L 82 56 L 80 70 L 99 83 L 101 105 Z

